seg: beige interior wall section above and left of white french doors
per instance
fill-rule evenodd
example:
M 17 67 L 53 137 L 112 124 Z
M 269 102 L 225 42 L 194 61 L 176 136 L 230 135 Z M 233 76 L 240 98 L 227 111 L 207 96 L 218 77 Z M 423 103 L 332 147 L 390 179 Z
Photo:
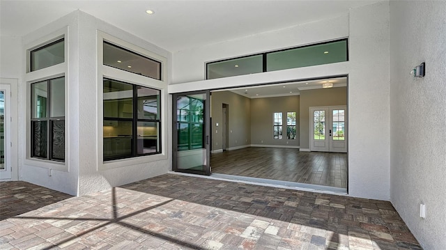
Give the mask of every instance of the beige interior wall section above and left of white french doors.
M 300 150 L 309 150 L 309 107 L 347 104 L 347 88 L 318 88 L 300 91 Z

